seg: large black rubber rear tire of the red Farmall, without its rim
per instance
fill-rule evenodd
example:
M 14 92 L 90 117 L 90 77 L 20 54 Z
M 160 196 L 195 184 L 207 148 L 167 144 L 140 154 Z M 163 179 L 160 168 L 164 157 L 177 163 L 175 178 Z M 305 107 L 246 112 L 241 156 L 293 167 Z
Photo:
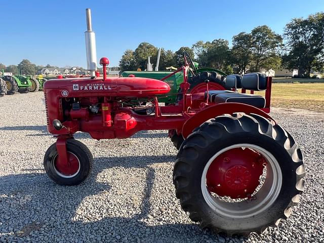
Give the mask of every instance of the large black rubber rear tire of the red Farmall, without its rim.
M 282 182 L 276 190 L 277 196 L 266 210 L 258 211 L 252 217 L 225 217 L 220 213 L 221 208 L 213 209 L 210 201 L 205 199 L 202 181 L 208 161 L 217 152 L 235 144 L 261 147 L 275 158 L 280 168 L 278 177 Z M 290 216 L 291 207 L 299 202 L 299 194 L 303 192 L 304 176 L 301 151 L 284 129 L 259 115 L 227 114 L 204 123 L 185 139 L 177 155 L 173 180 L 182 209 L 189 212 L 189 218 L 199 222 L 200 227 L 227 235 L 249 235 L 251 232 L 262 233 L 268 226 L 277 225 L 281 218 Z M 256 200 L 259 203 L 262 199 Z M 245 207 L 252 206 L 246 204 Z M 238 213 L 241 212 L 234 211 L 233 214 Z

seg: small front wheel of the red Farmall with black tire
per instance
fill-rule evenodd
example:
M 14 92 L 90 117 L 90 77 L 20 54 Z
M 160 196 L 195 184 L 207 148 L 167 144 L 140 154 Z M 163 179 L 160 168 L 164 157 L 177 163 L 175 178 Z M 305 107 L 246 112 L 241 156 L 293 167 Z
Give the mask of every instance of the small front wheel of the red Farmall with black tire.
M 92 169 L 93 156 L 85 144 L 75 139 L 66 140 L 66 149 L 69 156 L 69 163 L 76 161 L 78 164 L 73 174 L 63 172 L 59 168 L 56 143 L 52 144 L 45 153 L 44 168 L 47 175 L 57 184 L 65 186 L 78 185 L 89 176 Z

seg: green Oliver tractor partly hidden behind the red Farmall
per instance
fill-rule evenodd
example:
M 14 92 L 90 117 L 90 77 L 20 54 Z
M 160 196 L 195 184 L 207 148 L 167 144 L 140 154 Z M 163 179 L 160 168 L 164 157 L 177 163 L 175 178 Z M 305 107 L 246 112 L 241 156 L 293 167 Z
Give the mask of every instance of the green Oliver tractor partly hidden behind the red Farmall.
M 172 71 L 124 71 L 120 76 L 128 77 L 129 75 L 134 75 L 136 77 L 161 79 L 171 73 Z M 192 73 L 189 72 L 189 75 L 188 83 L 190 84 L 189 92 L 191 94 L 205 92 L 206 80 L 209 81 L 210 90 L 228 89 L 224 82 L 227 74 L 221 70 L 214 68 L 197 68 L 197 65 L 195 65 L 195 70 L 192 70 Z M 170 104 L 176 103 L 182 99 L 182 91 L 180 89 L 180 84 L 183 82 L 182 72 L 175 73 L 164 80 L 164 82 L 170 85 L 171 91 L 168 95 L 158 97 L 158 102 Z

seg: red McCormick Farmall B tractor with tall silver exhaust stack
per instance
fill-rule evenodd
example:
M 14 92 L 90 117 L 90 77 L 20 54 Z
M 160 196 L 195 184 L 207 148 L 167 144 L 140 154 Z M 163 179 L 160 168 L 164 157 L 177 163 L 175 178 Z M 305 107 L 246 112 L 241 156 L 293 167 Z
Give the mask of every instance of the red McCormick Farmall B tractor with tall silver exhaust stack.
M 90 10 L 87 25 L 88 69 L 94 71 Z M 183 72 L 182 99 L 168 106 L 157 100 L 170 91 L 163 82 L 168 76 L 107 77 L 105 57 L 100 59 L 103 78 L 48 80 L 47 126 L 57 141 L 45 154 L 47 174 L 60 185 L 78 185 L 88 177 L 93 156 L 73 139 L 77 131 L 99 140 L 129 138 L 141 130 L 170 130 L 179 147 L 175 192 L 191 220 L 227 235 L 260 233 L 278 225 L 299 202 L 305 168 L 292 136 L 268 115 L 271 77 L 228 75 L 224 81 L 228 90 L 222 86 L 210 90 L 206 79 L 206 90 L 192 94 L 188 72 L 197 73 L 190 68 L 188 54 L 184 59 L 183 67 L 174 72 Z M 265 98 L 253 94 L 261 90 L 266 90 Z M 137 105 L 136 100 L 143 99 L 146 105 Z

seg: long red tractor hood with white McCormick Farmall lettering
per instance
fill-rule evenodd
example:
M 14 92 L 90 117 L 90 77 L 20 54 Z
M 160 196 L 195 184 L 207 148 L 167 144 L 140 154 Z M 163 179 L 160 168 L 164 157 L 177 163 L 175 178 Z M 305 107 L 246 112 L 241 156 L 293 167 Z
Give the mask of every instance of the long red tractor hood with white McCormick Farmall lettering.
M 45 82 L 44 90 L 58 89 L 63 97 L 120 96 L 147 97 L 170 92 L 170 86 L 160 80 L 142 77 L 63 78 Z

